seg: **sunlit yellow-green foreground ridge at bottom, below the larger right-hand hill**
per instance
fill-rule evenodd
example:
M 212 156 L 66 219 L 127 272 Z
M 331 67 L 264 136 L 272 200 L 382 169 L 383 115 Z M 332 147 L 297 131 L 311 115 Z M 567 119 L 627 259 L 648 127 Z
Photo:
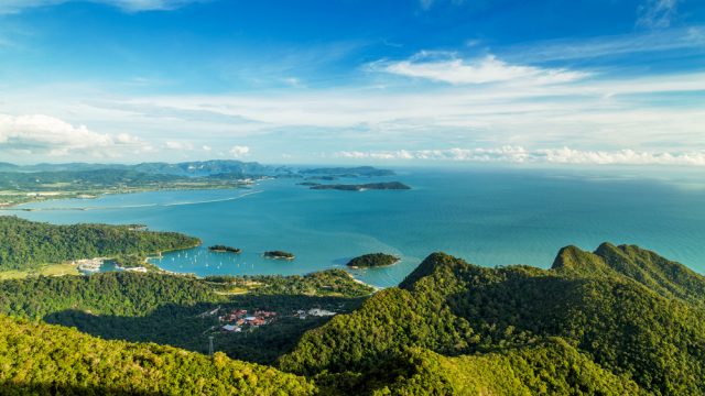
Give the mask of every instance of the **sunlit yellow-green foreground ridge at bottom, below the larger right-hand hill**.
M 604 370 L 560 338 L 516 349 L 444 356 L 410 348 L 365 375 L 322 374 L 330 395 L 640 395 L 637 384 Z

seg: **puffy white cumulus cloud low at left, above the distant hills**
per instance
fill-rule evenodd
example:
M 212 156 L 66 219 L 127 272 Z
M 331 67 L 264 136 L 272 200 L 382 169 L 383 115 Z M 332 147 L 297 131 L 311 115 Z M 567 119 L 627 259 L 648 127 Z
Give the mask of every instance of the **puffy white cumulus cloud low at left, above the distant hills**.
M 111 136 L 72 125 L 54 117 L 0 114 L 0 150 L 25 154 L 119 155 L 116 150 L 149 150 L 142 140 L 127 133 Z

